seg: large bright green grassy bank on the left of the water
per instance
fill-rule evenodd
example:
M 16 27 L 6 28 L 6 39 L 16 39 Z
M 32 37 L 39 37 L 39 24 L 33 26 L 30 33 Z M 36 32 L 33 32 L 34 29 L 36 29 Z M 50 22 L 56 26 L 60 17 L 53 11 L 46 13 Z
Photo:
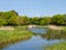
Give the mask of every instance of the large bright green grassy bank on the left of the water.
M 13 27 L 14 30 L 0 30 L 0 48 L 20 40 L 30 39 L 32 33 L 28 27 Z

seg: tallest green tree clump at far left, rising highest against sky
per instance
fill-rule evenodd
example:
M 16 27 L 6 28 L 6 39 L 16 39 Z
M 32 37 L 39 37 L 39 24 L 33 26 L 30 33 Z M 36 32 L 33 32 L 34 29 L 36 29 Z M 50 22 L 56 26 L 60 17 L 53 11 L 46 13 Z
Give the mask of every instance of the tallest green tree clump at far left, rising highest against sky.
M 0 20 L 3 23 L 8 22 L 6 24 L 18 24 L 18 13 L 14 10 L 7 11 L 7 12 L 0 12 Z

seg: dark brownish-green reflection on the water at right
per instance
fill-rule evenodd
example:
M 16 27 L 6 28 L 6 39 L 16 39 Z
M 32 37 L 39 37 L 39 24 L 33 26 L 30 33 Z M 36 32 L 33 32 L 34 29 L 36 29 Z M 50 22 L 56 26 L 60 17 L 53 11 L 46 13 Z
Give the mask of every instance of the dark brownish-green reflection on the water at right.
M 64 39 L 66 40 L 66 31 L 64 30 L 47 30 L 45 33 L 33 33 L 46 40 Z

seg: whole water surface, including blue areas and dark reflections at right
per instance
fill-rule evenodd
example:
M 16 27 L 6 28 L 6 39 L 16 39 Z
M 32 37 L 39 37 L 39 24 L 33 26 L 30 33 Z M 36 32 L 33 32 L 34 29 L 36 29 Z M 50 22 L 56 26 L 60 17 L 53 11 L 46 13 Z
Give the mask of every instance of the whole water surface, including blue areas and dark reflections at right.
M 42 50 L 43 46 L 66 40 L 66 32 L 63 30 L 33 28 L 31 31 L 33 32 L 32 37 L 23 39 L 21 42 L 15 42 L 15 44 L 7 46 L 1 50 Z

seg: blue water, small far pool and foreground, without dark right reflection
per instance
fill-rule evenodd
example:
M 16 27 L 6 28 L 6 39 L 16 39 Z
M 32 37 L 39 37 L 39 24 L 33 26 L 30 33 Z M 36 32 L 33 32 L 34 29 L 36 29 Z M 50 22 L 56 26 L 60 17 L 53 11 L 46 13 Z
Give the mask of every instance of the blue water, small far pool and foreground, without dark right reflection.
M 31 29 L 31 31 L 35 34 L 33 34 L 30 39 L 7 46 L 1 50 L 42 50 L 44 46 L 58 43 L 63 41 L 62 39 L 44 37 L 43 34 L 47 33 L 46 29 L 33 28 Z

